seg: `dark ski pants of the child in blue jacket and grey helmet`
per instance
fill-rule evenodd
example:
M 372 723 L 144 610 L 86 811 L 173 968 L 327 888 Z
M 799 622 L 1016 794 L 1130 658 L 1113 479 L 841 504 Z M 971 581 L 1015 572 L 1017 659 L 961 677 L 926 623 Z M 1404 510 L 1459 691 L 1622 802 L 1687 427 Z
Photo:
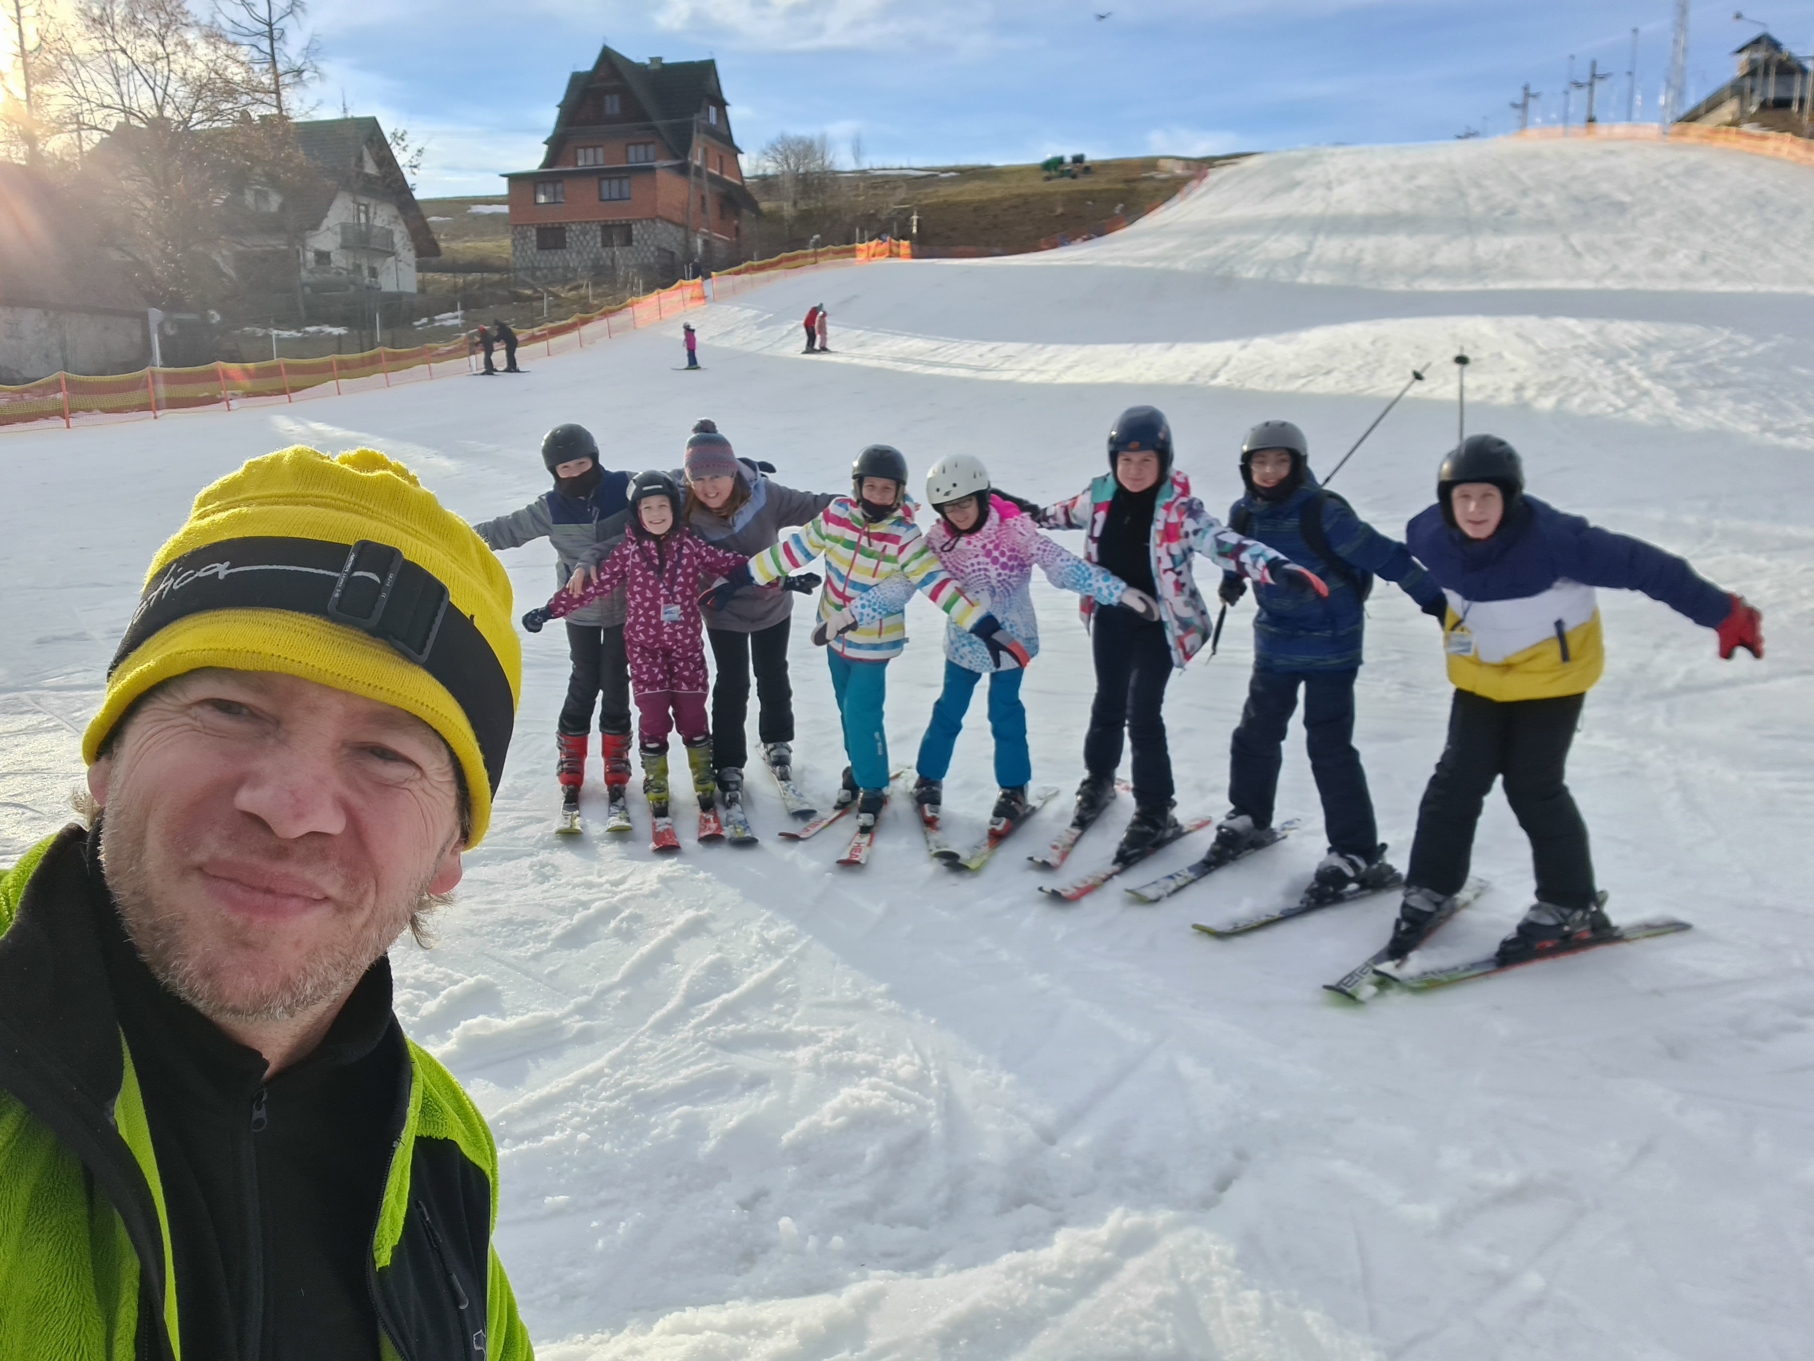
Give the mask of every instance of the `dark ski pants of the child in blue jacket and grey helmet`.
M 1228 753 L 1228 802 L 1253 826 L 1270 827 L 1279 793 L 1284 735 L 1304 688 L 1304 746 L 1322 797 L 1322 827 L 1331 851 L 1371 860 L 1379 847 L 1373 798 L 1355 751 L 1355 675 L 1344 671 L 1253 671 Z

